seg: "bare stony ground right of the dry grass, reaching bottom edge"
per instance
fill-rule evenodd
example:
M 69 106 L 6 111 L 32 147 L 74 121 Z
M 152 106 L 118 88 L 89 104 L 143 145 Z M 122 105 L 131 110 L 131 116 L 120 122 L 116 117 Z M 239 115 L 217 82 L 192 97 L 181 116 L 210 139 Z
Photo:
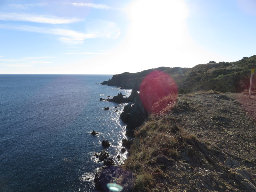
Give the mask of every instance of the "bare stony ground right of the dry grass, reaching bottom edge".
M 194 110 L 174 115 L 196 137 L 168 167 L 163 191 L 256 191 L 256 97 L 201 92 L 179 100 Z

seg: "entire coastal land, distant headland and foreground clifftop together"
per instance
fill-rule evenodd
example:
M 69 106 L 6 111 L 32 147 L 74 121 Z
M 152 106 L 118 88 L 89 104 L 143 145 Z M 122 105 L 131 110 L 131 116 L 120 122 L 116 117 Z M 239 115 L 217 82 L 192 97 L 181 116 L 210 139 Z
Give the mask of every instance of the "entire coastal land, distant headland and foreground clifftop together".
M 129 157 L 121 167 L 102 168 L 97 185 L 113 182 L 124 192 L 255 192 L 256 96 L 244 94 L 255 62 L 252 56 L 162 67 L 103 82 L 140 90 L 134 104 L 124 107 L 128 125 L 141 120 L 140 111 L 148 116 L 127 125 L 135 138 Z M 254 77 L 253 90 L 255 85 Z

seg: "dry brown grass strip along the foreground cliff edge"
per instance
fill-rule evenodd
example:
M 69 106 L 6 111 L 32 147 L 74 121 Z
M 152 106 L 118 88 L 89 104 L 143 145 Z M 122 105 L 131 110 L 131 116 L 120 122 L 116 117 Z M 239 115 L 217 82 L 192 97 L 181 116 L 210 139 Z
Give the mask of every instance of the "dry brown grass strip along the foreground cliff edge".
M 179 100 L 173 108 L 194 110 L 185 100 Z M 157 181 L 165 177 L 163 167 L 167 166 L 158 163 L 158 156 L 164 155 L 173 162 L 180 158 L 180 152 L 188 142 L 196 141 L 196 135 L 184 133 L 179 121 L 179 117 L 172 113 L 151 114 L 148 121 L 135 131 L 135 137 L 140 138 L 140 146 L 124 164 L 125 169 L 135 174 L 133 191 L 158 189 L 160 186 L 157 186 Z

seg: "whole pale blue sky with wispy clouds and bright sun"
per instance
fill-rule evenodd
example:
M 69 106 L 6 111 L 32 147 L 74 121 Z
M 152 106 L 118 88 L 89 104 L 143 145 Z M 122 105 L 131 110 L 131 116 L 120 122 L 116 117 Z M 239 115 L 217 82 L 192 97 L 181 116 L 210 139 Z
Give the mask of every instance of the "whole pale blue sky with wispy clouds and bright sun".
M 120 74 L 256 55 L 255 0 L 0 0 L 0 74 Z

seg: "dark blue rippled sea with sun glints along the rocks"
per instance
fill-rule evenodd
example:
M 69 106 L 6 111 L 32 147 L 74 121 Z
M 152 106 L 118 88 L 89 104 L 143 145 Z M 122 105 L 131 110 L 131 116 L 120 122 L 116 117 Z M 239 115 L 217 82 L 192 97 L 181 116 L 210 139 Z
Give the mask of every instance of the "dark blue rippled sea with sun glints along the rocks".
M 0 75 L 1 192 L 96 191 L 94 174 L 103 163 L 93 154 L 105 149 L 110 157 L 126 158 L 119 118 L 125 104 L 100 98 L 131 90 L 96 84 L 111 77 Z

